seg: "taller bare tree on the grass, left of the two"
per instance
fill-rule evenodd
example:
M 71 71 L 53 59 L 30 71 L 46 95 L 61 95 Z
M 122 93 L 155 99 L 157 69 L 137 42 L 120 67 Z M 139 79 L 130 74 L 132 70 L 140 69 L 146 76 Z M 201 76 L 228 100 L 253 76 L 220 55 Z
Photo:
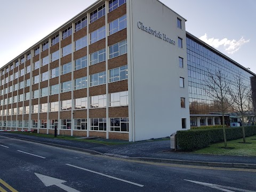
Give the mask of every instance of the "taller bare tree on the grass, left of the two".
M 229 83 L 227 76 L 221 73 L 220 70 L 215 73 L 208 73 L 205 79 L 205 92 L 214 100 L 214 107 L 222 114 L 222 127 L 224 136 L 224 145 L 227 147 L 226 127 L 225 127 L 225 112 L 230 108 L 229 102 Z

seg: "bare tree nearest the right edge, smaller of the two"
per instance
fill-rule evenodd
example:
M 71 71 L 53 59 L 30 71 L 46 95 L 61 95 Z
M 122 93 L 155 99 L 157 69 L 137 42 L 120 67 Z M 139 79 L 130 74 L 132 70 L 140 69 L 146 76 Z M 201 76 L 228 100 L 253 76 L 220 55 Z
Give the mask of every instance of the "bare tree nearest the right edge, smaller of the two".
M 229 89 L 229 94 L 233 100 L 232 107 L 242 116 L 243 142 L 245 143 L 244 115 L 250 110 L 249 95 L 251 95 L 251 87 L 246 86 L 241 74 L 234 76 L 234 87 Z

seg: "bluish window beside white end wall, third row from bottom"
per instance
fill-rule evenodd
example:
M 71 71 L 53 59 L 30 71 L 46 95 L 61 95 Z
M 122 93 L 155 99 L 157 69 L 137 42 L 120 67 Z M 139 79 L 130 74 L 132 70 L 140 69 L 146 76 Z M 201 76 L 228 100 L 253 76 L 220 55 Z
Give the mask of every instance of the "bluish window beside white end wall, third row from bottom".
M 109 82 L 122 81 L 128 78 L 127 65 L 109 70 Z

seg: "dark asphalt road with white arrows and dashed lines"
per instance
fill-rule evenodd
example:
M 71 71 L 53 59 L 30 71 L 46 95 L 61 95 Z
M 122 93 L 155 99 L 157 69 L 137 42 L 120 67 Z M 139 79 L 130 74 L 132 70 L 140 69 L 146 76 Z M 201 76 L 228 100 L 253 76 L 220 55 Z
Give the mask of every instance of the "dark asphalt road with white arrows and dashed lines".
M 1 192 L 256 191 L 256 170 L 137 162 L 2 136 L 0 162 Z

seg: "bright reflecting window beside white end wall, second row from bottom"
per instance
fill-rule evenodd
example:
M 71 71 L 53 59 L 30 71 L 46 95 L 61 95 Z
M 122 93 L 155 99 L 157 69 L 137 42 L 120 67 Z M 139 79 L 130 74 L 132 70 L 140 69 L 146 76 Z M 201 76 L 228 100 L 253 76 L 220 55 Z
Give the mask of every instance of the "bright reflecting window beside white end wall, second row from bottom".
M 128 104 L 128 91 L 110 93 L 110 107 L 127 106 Z

